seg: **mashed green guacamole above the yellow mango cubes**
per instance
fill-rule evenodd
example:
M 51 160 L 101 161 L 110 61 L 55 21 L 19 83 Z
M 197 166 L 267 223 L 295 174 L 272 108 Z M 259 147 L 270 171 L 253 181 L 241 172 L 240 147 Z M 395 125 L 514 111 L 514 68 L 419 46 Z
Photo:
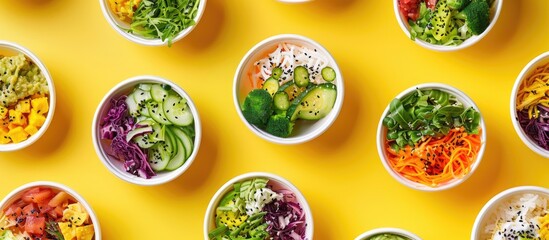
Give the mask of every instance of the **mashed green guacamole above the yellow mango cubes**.
M 25 55 L 0 56 L 0 107 L 8 107 L 33 94 L 49 94 L 46 77 Z

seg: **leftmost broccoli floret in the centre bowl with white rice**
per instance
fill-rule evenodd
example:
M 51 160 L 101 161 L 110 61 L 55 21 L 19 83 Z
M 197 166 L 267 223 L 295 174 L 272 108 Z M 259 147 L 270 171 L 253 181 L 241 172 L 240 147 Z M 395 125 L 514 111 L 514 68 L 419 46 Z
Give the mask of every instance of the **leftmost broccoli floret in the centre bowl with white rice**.
M 265 127 L 273 113 L 273 98 L 264 89 L 254 89 L 242 104 L 242 114 L 250 124 L 259 128 Z

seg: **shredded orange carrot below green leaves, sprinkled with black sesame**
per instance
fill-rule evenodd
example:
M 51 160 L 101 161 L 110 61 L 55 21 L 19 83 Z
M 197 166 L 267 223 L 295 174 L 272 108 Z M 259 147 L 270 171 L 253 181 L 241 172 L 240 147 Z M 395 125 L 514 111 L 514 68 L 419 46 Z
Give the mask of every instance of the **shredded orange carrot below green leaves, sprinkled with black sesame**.
M 390 144 L 385 142 L 385 151 L 392 169 L 411 181 L 436 187 L 469 173 L 481 139 L 480 133 L 468 134 L 464 128 L 456 128 L 444 137 L 427 137 L 398 152 Z

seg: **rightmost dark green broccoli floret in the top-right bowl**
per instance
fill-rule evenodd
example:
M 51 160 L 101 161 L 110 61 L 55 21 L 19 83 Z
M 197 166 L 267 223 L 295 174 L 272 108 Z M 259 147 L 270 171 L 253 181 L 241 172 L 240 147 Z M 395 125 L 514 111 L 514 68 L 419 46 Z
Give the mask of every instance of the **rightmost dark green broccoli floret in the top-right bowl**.
M 479 35 L 490 25 L 490 6 L 486 0 L 473 0 L 455 18 L 465 20 L 471 33 Z

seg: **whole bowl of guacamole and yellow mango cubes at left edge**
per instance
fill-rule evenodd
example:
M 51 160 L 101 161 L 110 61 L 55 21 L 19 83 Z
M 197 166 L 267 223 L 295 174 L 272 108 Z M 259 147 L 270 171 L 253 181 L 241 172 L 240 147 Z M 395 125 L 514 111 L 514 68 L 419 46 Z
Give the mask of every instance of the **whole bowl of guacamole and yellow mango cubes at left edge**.
M 0 41 L 0 152 L 35 143 L 55 112 L 55 87 L 46 66 L 31 51 Z

